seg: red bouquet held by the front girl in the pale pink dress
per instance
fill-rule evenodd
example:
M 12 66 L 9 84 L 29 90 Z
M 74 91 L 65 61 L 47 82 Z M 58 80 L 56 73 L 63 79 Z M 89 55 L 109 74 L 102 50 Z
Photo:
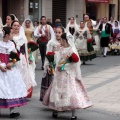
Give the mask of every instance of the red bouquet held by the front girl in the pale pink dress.
M 64 70 L 65 64 L 72 62 L 77 63 L 78 61 L 79 61 L 79 57 L 75 53 L 72 53 L 71 55 L 67 55 L 65 61 L 60 62 L 60 65 L 62 65 L 61 70 Z

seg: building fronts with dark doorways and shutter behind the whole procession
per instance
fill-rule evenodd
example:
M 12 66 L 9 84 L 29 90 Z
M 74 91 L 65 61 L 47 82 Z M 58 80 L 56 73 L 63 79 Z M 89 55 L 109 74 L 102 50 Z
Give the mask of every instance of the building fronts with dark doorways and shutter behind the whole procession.
M 45 15 L 53 23 L 61 19 L 66 26 L 70 17 L 79 23 L 86 13 L 95 20 L 104 16 L 118 20 L 118 4 L 118 0 L 0 0 L 0 16 L 5 23 L 6 16 L 14 13 L 22 23 L 25 18 L 34 21 Z

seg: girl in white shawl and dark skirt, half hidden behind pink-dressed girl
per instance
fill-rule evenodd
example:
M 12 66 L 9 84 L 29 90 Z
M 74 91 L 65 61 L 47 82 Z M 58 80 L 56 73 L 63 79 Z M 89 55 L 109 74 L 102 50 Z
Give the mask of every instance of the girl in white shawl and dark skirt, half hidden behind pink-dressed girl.
M 64 33 L 64 28 L 62 26 L 58 26 L 55 31 L 56 31 L 56 33 L 55 33 L 56 37 L 51 39 L 48 42 L 46 54 L 48 52 L 55 52 L 60 47 L 59 40 L 61 39 L 61 35 Z M 43 78 L 42 78 L 41 91 L 40 91 L 40 101 L 43 100 L 46 90 L 48 89 L 48 87 L 51 84 L 52 78 L 53 78 L 53 74 L 51 74 L 50 63 L 47 60 L 47 58 L 45 58 L 44 74 L 43 74 Z

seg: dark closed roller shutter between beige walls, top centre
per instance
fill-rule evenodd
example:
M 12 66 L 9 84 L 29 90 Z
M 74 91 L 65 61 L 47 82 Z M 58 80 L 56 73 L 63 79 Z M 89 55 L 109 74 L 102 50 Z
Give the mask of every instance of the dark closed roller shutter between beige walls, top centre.
M 52 23 L 54 25 L 56 19 L 60 19 L 62 25 L 66 27 L 66 0 L 53 0 L 52 2 Z

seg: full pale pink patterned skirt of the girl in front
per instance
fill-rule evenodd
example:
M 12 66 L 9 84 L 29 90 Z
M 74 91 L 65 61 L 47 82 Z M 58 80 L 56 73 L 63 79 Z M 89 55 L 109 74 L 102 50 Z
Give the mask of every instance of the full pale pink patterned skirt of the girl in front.
M 76 80 L 74 74 L 65 71 L 54 75 L 42 103 L 56 111 L 85 109 L 92 106 L 82 81 Z

